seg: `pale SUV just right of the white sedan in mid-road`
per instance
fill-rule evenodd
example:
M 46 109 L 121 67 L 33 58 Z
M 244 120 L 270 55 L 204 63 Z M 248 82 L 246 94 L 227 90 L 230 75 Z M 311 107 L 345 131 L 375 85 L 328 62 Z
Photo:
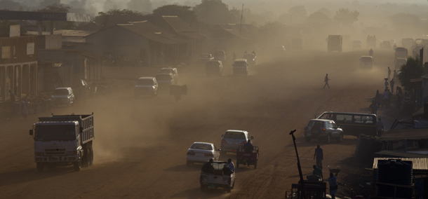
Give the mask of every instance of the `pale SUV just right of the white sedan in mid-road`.
M 225 156 L 227 152 L 236 153 L 240 145 L 246 144 L 250 139 L 254 139 L 253 136 L 250 136 L 245 130 L 227 130 L 224 135 L 222 135 L 222 142 L 220 144 L 220 153 L 221 156 Z

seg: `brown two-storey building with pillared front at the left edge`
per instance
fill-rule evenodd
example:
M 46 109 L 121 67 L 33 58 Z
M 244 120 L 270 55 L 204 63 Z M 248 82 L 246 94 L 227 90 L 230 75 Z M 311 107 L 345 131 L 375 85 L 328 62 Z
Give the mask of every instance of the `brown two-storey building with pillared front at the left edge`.
M 36 95 L 37 36 L 0 38 L 0 100 L 5 102 L 11 90 L 17 99 Z

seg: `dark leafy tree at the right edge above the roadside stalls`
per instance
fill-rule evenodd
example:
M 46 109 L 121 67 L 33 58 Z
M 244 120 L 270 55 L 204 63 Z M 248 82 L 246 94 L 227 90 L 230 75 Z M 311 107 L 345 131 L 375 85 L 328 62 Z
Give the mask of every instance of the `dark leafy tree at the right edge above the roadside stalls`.
M 412 88 L 410 79 L 420 78 L 420 76 L 424 74 L 424 71 L 424 67 L 420 64 L 420 57 L 417 55 L 416 57 L 408 57 L 407 63 L 401 66 L 397 76 L 400 84 L 403 85 L 404 88 L 410 89 Z

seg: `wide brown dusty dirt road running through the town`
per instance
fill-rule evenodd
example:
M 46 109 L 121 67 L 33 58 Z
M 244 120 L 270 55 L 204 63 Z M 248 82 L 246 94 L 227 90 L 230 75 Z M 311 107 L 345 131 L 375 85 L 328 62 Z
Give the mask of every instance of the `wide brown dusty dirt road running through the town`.
M 314 149 L 321 144 L 323 172 L 327 174 L 327 165 L 339 165 L 339 181 L 352 181 L 352 174 L 361 170 L 353 161 L 356 137 L 346 136 L 341 143 L 307 143 L 302 130 L 323 111 L 368 112 L 394 54 L 376 52 L 373 69 L 359 69 L 359 57 L 366 54 L 366 50 L 301 51 L 264 59 L 260 55 L 248 76 L 232 76 L 229 63 L 220 77 L 206 77 L 203 67 L 185 67 L 180 84 L 187 84 L 189 93 L 178 103 L 168 92 L 135 99 L 133 81 L 128 81 L 109 95 L 53 109 L 53 114 L 95 114 L 94 165 L 80 172 L 72 167 L 37 172 L 28 134 L 35 116 L 1 121 L 0 198 L 283 198 L 290 184 L 298 181 L 288 135 L 294 129 L 305 176 L 312 173 Z M 323 89 L 326 73 L 330 89 Z M 128 74 L 130 79 L 149 75 L 154 74 Z M 187 167 L 186 151 L 193 142 L 219 147 L 227 129 L 248 130 L 255 137 L 254 145 L 260 147 L 258 168 L 237 169 L 232 193 L 221 189 L 203 193 L 201 165 Z

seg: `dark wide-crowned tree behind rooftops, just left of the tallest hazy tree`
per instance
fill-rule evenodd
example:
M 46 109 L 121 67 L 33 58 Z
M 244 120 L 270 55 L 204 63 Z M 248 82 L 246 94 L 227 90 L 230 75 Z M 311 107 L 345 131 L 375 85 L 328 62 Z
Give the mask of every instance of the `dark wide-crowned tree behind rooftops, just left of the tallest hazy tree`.
M 154 9 L 152 15 L 154 16 L 178 16 L 180 19 L 189 23 L 190 25 L 197 25 L 198 20 L 196 13 L 192 11 L 190 6 L 179 6 L 179 5 L 166 5 Z

